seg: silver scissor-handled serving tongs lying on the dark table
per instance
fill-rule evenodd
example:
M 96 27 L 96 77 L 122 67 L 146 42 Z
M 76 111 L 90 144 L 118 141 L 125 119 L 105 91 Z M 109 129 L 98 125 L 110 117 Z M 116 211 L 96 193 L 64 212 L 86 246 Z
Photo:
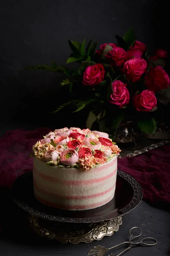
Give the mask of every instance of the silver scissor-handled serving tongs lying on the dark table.
M 132 234 L 132 231 L 140 231 L 139 235 L 136 235 L 136 236 L 133 236 Z M 105 248 L 104 246 L 95 246 L 93 249 L 91 249 L 89 252 L 88 252 L 88 255 L 87 256 L 104 256 L 105 253 L 108 251 L 108 250 L 111 250 L 113 248 L 116 248 L 122 244 L 129 244 L 129 247 L 127 247 L 125 250 L 123 250 L 121 253 L 119 253 L 118 255 L 115 255 L 113 253 L 111 253 L 109 256 L 120 256 L 122 255 L 123 253 L 125 253 L 127 250 L 129 250 L 133 245 L 145 245 L 145 246 L 153 246 L 155 244 L 157 244 L 157 240 L 154 239 L 153 237 L 144 237 L 143 239 L 141 239 L 140 241 L 133 241 L 134 239 L 138 238 L 139 236 L 142 235 L 142 230 L 139 228 L 139 227 L 133 227 L 130 229 L 129 231 L 129 241 L 125 241 L 125 242 L 122 242 L 120 244 L 117 244 L 111 248 Z M 147 243 L 147 241 L 152 241 L 151 243 Z

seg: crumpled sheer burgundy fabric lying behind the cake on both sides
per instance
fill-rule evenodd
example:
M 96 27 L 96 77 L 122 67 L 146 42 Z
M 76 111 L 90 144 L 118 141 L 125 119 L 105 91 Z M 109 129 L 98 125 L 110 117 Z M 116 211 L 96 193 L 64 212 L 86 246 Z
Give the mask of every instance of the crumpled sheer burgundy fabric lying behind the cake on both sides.
M 0 138 L 0 191 L 11 187 L 22 173 L 32 169 L 31 148 L 50 130 L 8 131 Z M 155 205 L 170 203 L 170 145 L 132 158 L 119 158 L 118 168 L 142 185 L 144 200 Z

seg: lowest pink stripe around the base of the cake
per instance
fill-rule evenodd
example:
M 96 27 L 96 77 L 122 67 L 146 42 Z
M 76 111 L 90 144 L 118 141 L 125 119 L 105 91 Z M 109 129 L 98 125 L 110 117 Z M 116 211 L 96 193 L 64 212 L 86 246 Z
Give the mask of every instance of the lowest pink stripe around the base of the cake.
M 35 194 L 35 193 L 34 193 Z M 36 198 L 43 204 L 46 204 L 50 207 L 54 207 L 54 208 L 58 208 L 58 209 L 70 209 L 70 210 L 74 210 L 74 209 L 93 209 L 96 207 L 100 207 L 101 205 L 107 204 L 108 202 L 111 201 L 111 199 L 113 198 L 113 195 L 111 195 L 109 198 L 107 198 L 107 200 L 105 201 L 101 201 L 100 203 L 94 203 L 94 204 L 85 204 L 85 205 L 62 205 L 62 204 L 56 204 L 56 203 L 52 203 L 50 201 L 46 201 L 42 198 L 40 198 L 38 195 L 36 195 Z

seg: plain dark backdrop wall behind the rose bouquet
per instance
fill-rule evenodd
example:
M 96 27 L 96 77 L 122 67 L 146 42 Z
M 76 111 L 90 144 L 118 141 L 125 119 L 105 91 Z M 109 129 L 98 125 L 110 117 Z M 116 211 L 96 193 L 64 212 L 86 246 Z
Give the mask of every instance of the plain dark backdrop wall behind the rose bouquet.
M 1 121 L 68 125 L 66 117 L 50 114 L 64 97 L 57 92 L 61 75 L 18 69 L 51 61 L 65 64 L 68 38 L 82 41 L 86 36 L 100 45 L 114 42 L 115 34 L 122 36 L 131 26 L 149 50 L 167 49 L 167 9 L 164 0 L 1 0 Z M 79 124 L 77 117 L 71 116 L 70 125 Z

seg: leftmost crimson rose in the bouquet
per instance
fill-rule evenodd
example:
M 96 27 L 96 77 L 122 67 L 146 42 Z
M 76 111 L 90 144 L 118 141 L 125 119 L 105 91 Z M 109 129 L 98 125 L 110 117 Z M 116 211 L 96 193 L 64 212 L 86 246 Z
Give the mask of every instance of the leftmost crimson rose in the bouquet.
M 104 76 L 105 69 L 102 64 L 98 63 L 93 66 L 88 66 L 85 69 L 82 83 L 84 85 L 95 86 L 96 84 L 104 81 Z

